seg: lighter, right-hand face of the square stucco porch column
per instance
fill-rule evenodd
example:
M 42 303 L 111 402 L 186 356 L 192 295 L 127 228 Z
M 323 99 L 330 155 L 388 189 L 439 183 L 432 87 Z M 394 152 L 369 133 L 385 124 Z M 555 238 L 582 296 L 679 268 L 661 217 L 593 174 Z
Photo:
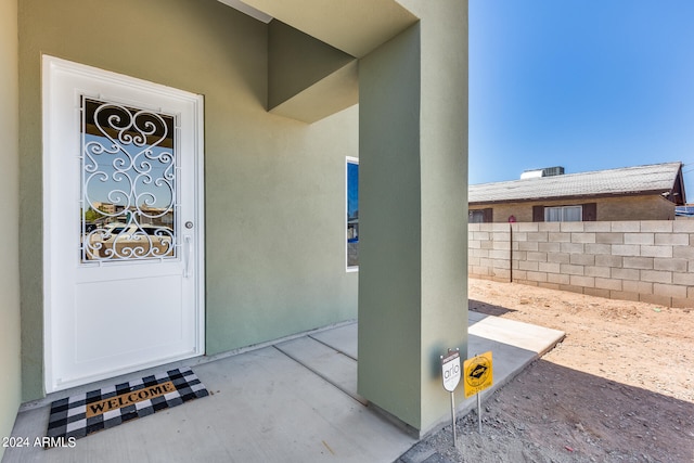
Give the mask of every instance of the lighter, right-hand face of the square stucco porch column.
M 467 358 L 467 0 L 399 1 L 422 18 L 421 429 L 427 430 L 450 416 L 439 355 L 459 347 Z M 458 389 L 457 402 L 463 400 Z

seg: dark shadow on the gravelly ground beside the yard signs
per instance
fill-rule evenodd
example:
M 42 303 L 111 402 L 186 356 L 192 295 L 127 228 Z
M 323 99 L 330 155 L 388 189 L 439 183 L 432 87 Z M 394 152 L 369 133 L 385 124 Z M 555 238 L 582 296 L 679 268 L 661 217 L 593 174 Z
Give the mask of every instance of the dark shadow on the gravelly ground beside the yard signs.
M 694 461 L 694 403 L 538 360 L 399 462 Z M 459 453 L 460 452 L 460 453 Z M 428 460 L 432 459 L 432 460 Z

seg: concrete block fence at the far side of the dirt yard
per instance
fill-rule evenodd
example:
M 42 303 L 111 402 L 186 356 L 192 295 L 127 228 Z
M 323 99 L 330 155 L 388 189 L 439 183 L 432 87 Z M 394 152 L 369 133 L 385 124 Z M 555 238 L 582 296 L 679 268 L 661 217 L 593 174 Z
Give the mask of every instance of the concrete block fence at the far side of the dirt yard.
M 694 307 L 694 220 L 470 223 L 472 278 Z

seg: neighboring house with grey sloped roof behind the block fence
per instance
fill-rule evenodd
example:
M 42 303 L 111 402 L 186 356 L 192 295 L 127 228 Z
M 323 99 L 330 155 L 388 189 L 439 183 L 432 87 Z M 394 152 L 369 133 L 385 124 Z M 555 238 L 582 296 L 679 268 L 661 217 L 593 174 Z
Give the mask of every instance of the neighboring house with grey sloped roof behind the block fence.
M 679 162 L 568 175 L 552 170 L 470 185 L 470 222 L 673 220 L 676 206 L 686 203 Z

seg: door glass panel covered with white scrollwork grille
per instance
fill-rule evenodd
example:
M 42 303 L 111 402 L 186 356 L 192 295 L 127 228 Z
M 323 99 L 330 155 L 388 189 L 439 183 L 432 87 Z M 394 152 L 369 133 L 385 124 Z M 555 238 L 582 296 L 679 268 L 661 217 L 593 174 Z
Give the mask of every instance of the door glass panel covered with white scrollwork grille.
M 174 116 L 82 98 L 82 262 L 176 257 Z

